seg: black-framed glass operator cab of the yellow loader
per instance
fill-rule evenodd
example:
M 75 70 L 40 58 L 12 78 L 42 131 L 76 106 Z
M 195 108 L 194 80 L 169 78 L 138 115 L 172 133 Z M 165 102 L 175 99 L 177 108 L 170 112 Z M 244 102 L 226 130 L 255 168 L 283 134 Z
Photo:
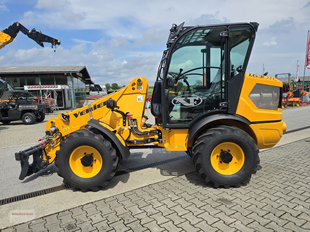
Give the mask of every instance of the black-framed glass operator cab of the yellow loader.
M 168 128 L 234 113 L 258 26 L 183 24 L 170 29 L 151 102 L 156 122 Z

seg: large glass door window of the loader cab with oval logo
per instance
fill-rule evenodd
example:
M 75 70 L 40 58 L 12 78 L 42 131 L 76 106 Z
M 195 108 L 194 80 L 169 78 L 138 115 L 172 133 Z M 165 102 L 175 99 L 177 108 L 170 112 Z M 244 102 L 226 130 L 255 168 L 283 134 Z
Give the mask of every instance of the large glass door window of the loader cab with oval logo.
M 185 34 L 172 51 L 166 86 L 167 126 L 186 126 L 201 114 L 220 110 L 224 101 L 225 38 L 227 28 L 198 29 Z

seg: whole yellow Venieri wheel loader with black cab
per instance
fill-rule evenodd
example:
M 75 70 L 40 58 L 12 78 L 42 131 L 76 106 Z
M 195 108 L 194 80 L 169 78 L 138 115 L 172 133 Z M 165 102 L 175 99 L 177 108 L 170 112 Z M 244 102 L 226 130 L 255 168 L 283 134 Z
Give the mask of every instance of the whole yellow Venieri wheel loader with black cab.
M 130 149 L 164 148 L 185 151 L 215 187 L 250 181 L 259 149 L 277 144 L 286 130 L 282 83 L 245 72 L 258 25 L 173 24 L 152 95 L 155 125 L 144 114 L 148 82 L 137 77 L 49 120 L 37 146 L 15 153 L 20 180 L 55 161 L 64 183 L 96 191 Z

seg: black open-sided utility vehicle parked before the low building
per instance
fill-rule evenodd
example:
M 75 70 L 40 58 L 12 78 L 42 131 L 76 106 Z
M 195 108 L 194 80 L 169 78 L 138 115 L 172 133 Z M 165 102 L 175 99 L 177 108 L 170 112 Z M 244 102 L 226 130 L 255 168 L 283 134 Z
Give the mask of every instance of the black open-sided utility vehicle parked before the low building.
M 10 90 L 0 93 L 0 122 L 22 120 L 25 125 L 42 122 L 46 106 L 29 100 L 32 94 L 25 90 Z

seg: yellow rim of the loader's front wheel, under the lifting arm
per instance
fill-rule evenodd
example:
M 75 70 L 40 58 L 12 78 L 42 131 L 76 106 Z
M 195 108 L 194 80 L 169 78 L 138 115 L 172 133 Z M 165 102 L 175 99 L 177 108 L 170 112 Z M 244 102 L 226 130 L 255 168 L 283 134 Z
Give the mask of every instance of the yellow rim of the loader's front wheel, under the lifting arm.
M 86 153 L 86 154 L 85 154 Z M 92 154 L 92 155 L 91 155 Z M 81 159 L 85 156 L 91 156 L 92 163 L 90 166 L 83 166 Z M 102 159 L 100 153 L 90 146 L 80 146 L 75 148 L 69 157 L 71 170 L 79 177 L 91 178 L 99 173 L 102 167 Z

